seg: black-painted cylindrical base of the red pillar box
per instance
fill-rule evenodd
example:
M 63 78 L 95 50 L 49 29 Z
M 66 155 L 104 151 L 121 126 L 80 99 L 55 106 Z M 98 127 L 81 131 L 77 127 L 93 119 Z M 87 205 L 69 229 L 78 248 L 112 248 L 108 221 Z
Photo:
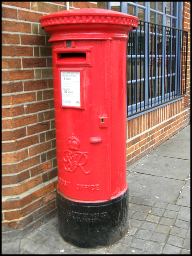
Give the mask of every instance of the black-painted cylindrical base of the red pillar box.
M 93 248 L 114 244 L 127 233 L 128 189 L 101 203 L 68 200 L 57 191 L 59 232 L 66 242 Z

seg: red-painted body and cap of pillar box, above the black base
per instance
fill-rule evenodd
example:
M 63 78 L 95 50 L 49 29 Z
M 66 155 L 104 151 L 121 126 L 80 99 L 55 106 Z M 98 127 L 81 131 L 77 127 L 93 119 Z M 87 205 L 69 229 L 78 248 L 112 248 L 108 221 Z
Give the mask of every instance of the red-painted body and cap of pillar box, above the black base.
M 49 14 L 41 17 L 40 22 L 51 35 L 52 44 L 57 189 L 74 201 L 103 202 L 116 198 L 128 187 L 127 34 L 137 27 L 138 18 L 86 8 Z M 71 47 L 67 47 L 66 40 L 72 40 Z M 62 105 L 63 71 L 80 74 L 80 82 L 76 82 L 79 106 Z M 68 79 L 72 73 L 69 77 L 62 74 Z M 76 74 L 74 79 L 78 81 Z

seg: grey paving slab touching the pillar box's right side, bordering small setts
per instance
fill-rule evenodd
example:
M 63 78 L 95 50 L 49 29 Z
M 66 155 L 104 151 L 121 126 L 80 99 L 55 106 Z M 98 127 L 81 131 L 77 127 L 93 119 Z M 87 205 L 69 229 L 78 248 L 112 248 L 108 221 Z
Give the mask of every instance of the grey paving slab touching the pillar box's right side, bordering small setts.
M 184 181 L 130 172 L 127 175 L 129 196 L 174 204 Z

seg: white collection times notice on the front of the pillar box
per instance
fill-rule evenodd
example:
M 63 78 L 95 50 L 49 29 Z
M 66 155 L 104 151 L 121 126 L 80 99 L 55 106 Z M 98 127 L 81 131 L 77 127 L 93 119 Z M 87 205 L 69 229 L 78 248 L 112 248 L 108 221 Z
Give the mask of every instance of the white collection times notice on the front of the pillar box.
M 61 97 L 63 106 L 80 107 L 79 71 L 61 71 Z

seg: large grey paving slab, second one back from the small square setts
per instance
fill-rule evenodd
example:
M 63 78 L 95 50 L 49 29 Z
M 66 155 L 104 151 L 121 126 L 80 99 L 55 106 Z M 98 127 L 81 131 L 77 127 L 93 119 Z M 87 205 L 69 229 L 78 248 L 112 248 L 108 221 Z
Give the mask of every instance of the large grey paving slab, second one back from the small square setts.
M 149 154 L 135 168 L 133 172 L 151 174 L 159 177 L 185 180 L 188 178 L 190 161 L 165 156 Z

